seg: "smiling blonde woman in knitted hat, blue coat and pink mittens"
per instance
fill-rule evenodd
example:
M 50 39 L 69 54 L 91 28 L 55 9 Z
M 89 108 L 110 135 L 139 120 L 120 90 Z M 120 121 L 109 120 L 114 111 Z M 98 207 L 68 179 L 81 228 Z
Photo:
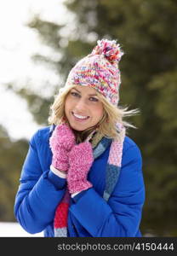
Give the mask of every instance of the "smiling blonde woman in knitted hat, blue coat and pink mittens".
M 123 120 L 137 111 L 117 107 L 122 55 L 115 40 L 98 41 L 71 69 L 50 126 L 31 137 L 14 203 L 27 232 L 141 236 L 142 160 Z

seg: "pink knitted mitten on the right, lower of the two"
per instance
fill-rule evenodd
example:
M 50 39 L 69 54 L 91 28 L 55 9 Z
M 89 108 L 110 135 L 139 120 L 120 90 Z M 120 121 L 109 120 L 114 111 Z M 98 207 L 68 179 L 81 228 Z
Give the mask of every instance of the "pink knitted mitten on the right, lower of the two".
M 94 161 L 93 149 L 90 143 L 79 143 L 71 148 L 69 153 L 69 170 L 67 172 L 67 183 L 69 192 L 75 193 L 91 188 L 87 175 Z

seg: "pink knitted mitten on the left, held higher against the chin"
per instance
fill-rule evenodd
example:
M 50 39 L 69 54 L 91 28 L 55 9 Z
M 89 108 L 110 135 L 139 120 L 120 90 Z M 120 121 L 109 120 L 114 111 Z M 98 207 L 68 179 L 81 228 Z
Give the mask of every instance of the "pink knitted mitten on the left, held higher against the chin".
M 57 125 L 49 139 L 49 145 L 53 153 L 52 166 L 66 172 L 69 168 L 68 154 L 76 144 L 75 136 L 69 125 Z

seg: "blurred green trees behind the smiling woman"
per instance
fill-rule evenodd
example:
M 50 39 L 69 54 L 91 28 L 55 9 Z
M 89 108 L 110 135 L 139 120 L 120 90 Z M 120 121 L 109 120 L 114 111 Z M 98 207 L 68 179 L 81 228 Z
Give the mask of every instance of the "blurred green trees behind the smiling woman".
M 88 55 L 97 40 L 117 40 L 125 53 L 119 64 L 119 104 L 141 112 L 128 119 L 138 127 L 128 130 L 128 136 L 139 145 L 143 157 L 146 203 L 140 229 L 143 234 L 177 236 L 177 2 L 66 0 L 65 4 L 72 17 L 65 25 L 40 15 L 26 25 L 54 52 L 33 56 L 36 65 L 46 65 L 60 76 L 60 84 L 46 81 L 44 86 L 57 93 L 71 67 Z M 14 90 L 14 84 L 6 85 Z M 26 99 L 38 124 L 48 125 L 54 96 L 37 95 L 26 84 L 15 93 Z M 12 143 L 3 127 L 0 131 L 0 220 L 12 221 L 14 194 L 28 145 L 26 141 Z

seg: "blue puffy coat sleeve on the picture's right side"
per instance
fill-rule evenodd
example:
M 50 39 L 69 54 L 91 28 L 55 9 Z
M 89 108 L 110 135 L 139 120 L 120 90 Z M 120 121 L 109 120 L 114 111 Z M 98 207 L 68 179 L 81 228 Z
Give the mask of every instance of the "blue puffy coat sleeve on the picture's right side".
M 123 155 L 116 187 L 106 202 L 90 188 L 73 197 L 71 212 L 94 237 L 134 237 L 139 231 L 145 186 L 140 149 L 131 146 Z

